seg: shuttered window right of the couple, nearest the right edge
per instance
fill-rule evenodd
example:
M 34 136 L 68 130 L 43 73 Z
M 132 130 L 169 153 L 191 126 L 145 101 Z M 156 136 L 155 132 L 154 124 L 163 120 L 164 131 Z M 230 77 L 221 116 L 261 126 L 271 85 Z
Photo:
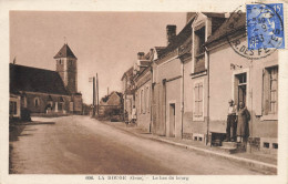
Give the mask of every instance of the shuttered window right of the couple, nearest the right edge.
M 264 70 L 264 115 L 278 112 L 278 67 Z

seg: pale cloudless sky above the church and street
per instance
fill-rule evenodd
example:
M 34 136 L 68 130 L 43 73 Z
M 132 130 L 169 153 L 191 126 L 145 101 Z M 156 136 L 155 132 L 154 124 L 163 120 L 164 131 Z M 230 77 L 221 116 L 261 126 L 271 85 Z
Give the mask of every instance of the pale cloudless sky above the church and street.
M 97 73 L 100 98 L 107 88 L 121 92 L 137 52 L 165 47 L 166 25 L 178 33 L 185 23 L 184 12 L 10 11 L 10 62 L 55 70 L 53 57 L 68 42 L 78 58 L 78 90 L 90 104 L 89 78 Z

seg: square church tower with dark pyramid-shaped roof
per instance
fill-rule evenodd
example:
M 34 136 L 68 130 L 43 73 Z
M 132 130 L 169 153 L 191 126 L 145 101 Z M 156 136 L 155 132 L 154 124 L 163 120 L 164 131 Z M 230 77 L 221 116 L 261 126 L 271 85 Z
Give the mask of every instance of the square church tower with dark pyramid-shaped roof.
M 78 92 L 78 58 L 65 43 L 54 57 L 56 60 L 56 72 L 70 94 Z

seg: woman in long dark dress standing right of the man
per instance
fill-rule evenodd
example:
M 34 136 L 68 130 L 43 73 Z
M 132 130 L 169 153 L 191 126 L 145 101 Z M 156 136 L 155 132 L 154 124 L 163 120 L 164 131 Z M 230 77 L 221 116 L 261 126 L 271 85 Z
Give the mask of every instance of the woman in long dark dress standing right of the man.
M 237 124 L 237 142 L 246 142 L 249 136 L 250 113 L 245 106 L 244 102 L 239 102 L 238 110 L 238 124 Z

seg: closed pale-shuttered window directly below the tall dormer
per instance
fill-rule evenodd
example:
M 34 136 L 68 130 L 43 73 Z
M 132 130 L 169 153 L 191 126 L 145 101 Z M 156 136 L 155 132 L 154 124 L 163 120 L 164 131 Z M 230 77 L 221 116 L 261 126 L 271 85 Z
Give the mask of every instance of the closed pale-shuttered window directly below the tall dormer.
M 195 83 L 194 85 L 194 116 L 203 116 L 203 82 Z

